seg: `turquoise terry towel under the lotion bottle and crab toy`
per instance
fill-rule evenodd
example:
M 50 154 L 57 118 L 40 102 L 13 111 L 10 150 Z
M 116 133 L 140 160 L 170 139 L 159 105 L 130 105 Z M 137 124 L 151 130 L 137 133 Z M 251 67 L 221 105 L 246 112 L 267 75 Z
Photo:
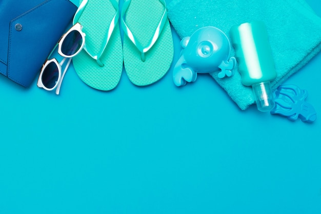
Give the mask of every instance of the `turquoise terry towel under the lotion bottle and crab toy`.
M 217 27 L 229 36 L 234 25 L 263 21 L 277 72 L 272 89 L 321 49 L 321 18 L 304 0 L 173 0 L 168 5 L 168 17 L 180 38 L 205 26 Z M 234 53 L 232 49 L 231 55 Z M 240 109 L 254 103 L 252 88 L 242 85 L 238 72 L 224 79 L 218 79 L 217 73 L 211 75 Z

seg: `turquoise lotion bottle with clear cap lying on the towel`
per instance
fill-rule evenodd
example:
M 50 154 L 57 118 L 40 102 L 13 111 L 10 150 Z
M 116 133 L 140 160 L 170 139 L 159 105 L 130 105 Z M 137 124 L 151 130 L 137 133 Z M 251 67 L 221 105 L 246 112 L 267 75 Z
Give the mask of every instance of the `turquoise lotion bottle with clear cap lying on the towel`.
M 234 26 L 230 35 L 242 84 L 252 86 L 258 110 L 272 110 L 275 103 L 270 82 L 276 71 L 265 24 L 253 21 Z

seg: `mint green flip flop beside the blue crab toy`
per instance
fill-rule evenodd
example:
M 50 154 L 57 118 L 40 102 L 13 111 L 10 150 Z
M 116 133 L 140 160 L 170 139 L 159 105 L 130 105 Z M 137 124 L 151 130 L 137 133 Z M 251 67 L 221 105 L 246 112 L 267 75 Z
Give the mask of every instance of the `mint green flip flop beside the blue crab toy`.
M 158 81 L 167 73 L 174 54 L 165 1 L 125 0 L 121 20 L 129 80 L 137 86 Z

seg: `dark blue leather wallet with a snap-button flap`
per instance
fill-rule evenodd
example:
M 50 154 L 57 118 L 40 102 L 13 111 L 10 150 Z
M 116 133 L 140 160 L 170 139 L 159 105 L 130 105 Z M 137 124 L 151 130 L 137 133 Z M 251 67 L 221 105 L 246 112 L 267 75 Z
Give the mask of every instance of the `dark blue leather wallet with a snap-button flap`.
M 76 10 L 68 0 L 0 1 L 0 73 L 30 86 Z

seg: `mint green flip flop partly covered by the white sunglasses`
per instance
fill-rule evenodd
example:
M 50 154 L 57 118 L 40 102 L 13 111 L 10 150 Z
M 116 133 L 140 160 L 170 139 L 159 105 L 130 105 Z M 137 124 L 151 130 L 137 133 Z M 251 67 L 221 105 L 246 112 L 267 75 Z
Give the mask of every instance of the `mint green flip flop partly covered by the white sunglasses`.
M 79 78 L 92 88 L 115 88 L 123 70 L 118 0 L 81 0 L 73 24 L 83 26 L 85 47 L 73 57 Z

